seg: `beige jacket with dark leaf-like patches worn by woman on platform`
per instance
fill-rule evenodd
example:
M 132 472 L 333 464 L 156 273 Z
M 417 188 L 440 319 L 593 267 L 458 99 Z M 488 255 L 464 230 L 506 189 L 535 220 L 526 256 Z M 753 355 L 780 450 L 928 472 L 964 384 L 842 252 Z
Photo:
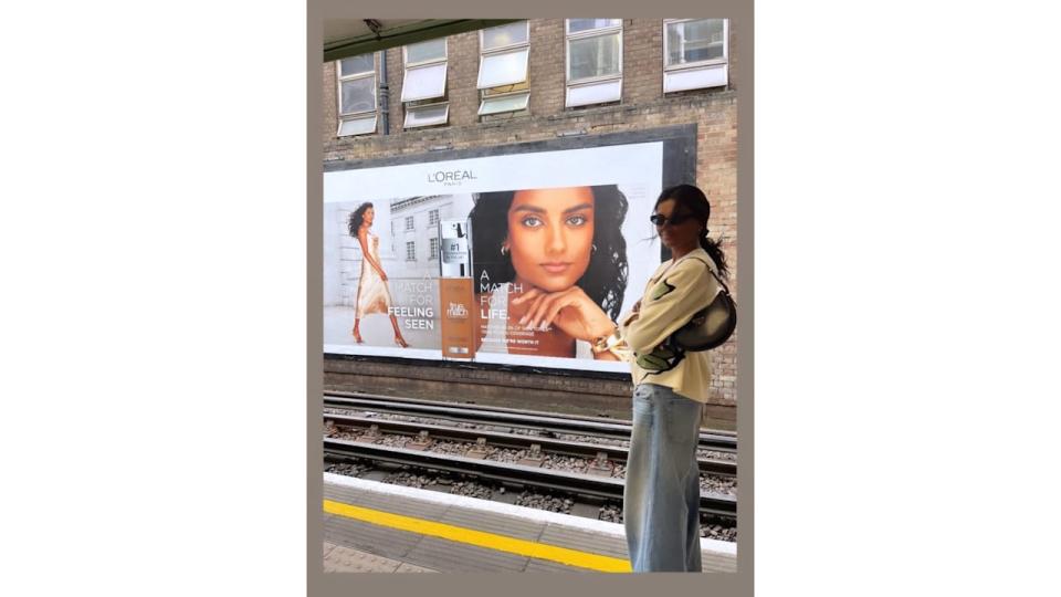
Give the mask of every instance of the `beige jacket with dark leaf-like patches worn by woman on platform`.
M 660 346 L 689 323 L 694 313 L 707 306 L 721 290 L 704 261 L 717 273 L 714 261 L 700 248 L 676 263 L 674 260 L 661 263 L 645 285 L 640 311 L 620 317 L 619 335 L 634 353 L 630 363 L 634 385 L 668 386 L 697 402 L 707 401 L 711 386 L 708 352 L 675 354 Z

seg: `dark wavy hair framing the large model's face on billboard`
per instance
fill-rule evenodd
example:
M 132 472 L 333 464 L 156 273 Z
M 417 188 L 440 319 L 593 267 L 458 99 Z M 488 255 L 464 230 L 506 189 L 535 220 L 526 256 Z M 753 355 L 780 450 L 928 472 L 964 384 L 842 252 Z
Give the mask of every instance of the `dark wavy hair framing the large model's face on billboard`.
M 619 317 L 622 296 L 627 289 L 627 241 L 622 237 L 622 220 L 627 217 L 627 197 L 616 185 L 590 187 L 593 192 L 593 245 L 589 266 L 577 282 L 612 321 Z M 472 222 L 472 268 L 475 287 L 483 272 L 491 284 L 512 282 L 516 272 L 512 258 L 501 254 L 501 245 L 508 238 L 508 208 L 515 190 L 481 192 L 469 214 Z

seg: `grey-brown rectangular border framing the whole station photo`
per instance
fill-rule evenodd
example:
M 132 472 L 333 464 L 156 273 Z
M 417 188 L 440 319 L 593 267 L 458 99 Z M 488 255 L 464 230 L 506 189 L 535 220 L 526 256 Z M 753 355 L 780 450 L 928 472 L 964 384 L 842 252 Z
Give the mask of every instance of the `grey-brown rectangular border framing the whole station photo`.
M 324 18 L 449 18 L 474 15 L 475 18 L 511 18 L 504 12 L 511 9 L 485 1 L 450 0 L 444 7 L 427 0 L 412 0 L 401 4 L 385 1 L 361 0 L 309 0 L 306 21 L 306 74 L 307 74 L 307 134 L 306 134 L 306 587 L 307 594 L 317 596 L 367 595 L 371 591 L 389 594 L 460 595 L 504 594 L 510 596 L 540 596 L 548 591 L 567 594 L 607 594 L 613 596 L 644 597 L 645 590 L 665 590 L 670 594 L 696 595 L 753 595 L 755 574 L 755 519 L 754 519 L 754 9 L 750 0 L 655 0 L 647 3 L 617 2 L 614 0 L 582 1 L 572 7 L 565 0 L 546 0 L 535 3 L 533 18 L 563 18 L 572 13 L 621 14 L 623 18 L 726 17 L 736 33 L 737 73 L 737 272 L 740 289 L 740 342 L 737 346 L 737 432 L 740 436 L 740 469 L 738 498 L 740 521 L 740 547 L 737 555 L 737 572 L 733 574 L 652 574 L 652 575 L 598 575 L 598 574 L 445 574 L 445 575 L 376 575 L 323 573 L 322 542 L 323 521 L 319 504 L 323 498 L 322 443 L 319 423 L 315 413 L 321 412 L 323 384 L 322 311 L 322 231 L 318 222 L 323 217 L 319 198 L 323 193 L 322 147 L 323 95 L 321 78 L 322 21 Z

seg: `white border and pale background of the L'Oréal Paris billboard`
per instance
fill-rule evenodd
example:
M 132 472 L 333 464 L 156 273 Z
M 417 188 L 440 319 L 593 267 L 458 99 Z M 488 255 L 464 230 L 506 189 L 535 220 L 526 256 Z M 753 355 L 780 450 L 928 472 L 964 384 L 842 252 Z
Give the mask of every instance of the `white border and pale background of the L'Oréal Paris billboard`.
M 449 177 L 447 177 L 449 174 Z M 471 178 L 474 177 L 474 178 Z M 449 178 L 447 180 L 447 178 Z M 439 181 L 442 179 L 443 181 Z M 334 305 L 339 291 L 336 276 L 336 259 L 340 249 L 337 244 L 345 223 L 337 217 L 337 210 L 356 208 L 364 201 L 372 201 L 377 207 L 377 223 L 374 233 L 380 237 L 380 253 L 385 271 L 388 258 L 403 258 L 403 248 L 397 255 L 385 254 L 391 235 L 390 218 L 399 223 L 401 218 L 389 213 L 388 208 L 395 198 L 430 195 L 464 195 L 497 190 L 525 188 L 547 188 L 565 186 L 617 185 L 628 201 L 627 216 L 622 223 L 622 235 L 627 241 L 627 262 L 629 274 L 623 294 L 621 312 L 627 312 L 641 296 L 644 284 L 660 263 L 660 243 L 655 229 L 649 222 L 655 198 L 662 190 L 663 143 L 639 143 L 565 149 L 559 151 L 534 151 L 505 156 L 433 161 L 429 164 L 409 164 L 338 170 L 324 175 L 324 285 L 325 303 Z M 380 206 L 384 206 L 380 209 Z M 387 212 L 386 218 L 380 219 Z M 452 217 L 458 214 L 456 210 Z M 445 219 L 445 214 L 443 214 Z M 329 229 L 332 232 L 329 232 Z M 427 243 L 421 232 L 418 247 Z M 474 231 L 473 231 L 474 240 Z M 402 243 L 399 243 L 403 245 Z M 419 251 L 419 249 L 418 249 Z M 400 260 L 399 260 L 400 261 Z M 438 275 L 437 273 L 434 275 Z M 353 307 L 347 307 L 353 308 Z M 326 313 L 328 306 L 326 305 Z M 381 317 L 381 316 L 379 316 Z M 364 333 L 363 333 L 364 335 Z M 325 329 L 324 352 L 329 354 L 398 356 L 408 358 L 442 359 L 439 349 L 399 348 L 397 346 L 368 346 L 354 344 L 348 331 L 329 334 Z M 479 363 L 497 363 L 549 368 L 576 368 L 600 371 L 626 373 L 629 367 L 622 363 L 597 362 L 563 357 L 538 357 L 526 355 L 505 355 L 480 353 Z

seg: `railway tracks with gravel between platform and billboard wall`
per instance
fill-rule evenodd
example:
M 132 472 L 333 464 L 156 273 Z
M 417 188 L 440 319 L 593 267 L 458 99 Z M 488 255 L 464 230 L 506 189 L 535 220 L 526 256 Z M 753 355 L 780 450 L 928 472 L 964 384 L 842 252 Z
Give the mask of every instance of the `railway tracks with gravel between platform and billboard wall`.
M 487 485 L 557 492 L 578 501 L 622 501 L 622 471 L 614 469 L 624 465 L 629 449 L 592 440 L 629 441 L 628 422 L 363 394 L 329 392 L 324 406 L 332 409 L 323 413 L 324 455 L 333 463 L 419 471 L 411 475 L 479 479 Z M 432 450 L 439 446 L 439 451 Z M 733 453 L 736 437 L 702 432 L 701 448 Z M 500 458 L 492 453 L 487 458 L 487 451 L 494 450 L 514 454 Z M 556 464 L 556 459 L 566 457 L 578 459 L 577 467 Z M 544 464 L 548 460 L 553 467 Z M 698 464 L 702 473 L 714 478 L 702 478 L 702 490 L 708 490 L 701 492 L 702 517 L 735 523 L 736 498 L 725 492 L 727 484 L 732 489 L 736 481 L 736 462 L 701 458 Z M 729 481 L 725 481 L 727 478 Z M 504 489 L 500 491 L 504 493 Z

